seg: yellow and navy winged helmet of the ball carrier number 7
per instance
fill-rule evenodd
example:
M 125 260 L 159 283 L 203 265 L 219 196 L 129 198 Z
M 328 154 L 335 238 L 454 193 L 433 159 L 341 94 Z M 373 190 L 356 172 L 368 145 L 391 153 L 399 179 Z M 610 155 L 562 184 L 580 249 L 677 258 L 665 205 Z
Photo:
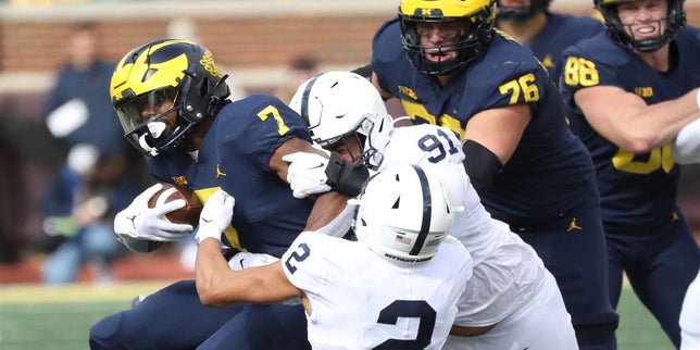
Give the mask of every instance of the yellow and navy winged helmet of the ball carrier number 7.
M 147 155 L 174 149 L 229 95 L 205 48 L 157 40 L 127 53 L 112 75 L 112 104 L 124 137 Z

